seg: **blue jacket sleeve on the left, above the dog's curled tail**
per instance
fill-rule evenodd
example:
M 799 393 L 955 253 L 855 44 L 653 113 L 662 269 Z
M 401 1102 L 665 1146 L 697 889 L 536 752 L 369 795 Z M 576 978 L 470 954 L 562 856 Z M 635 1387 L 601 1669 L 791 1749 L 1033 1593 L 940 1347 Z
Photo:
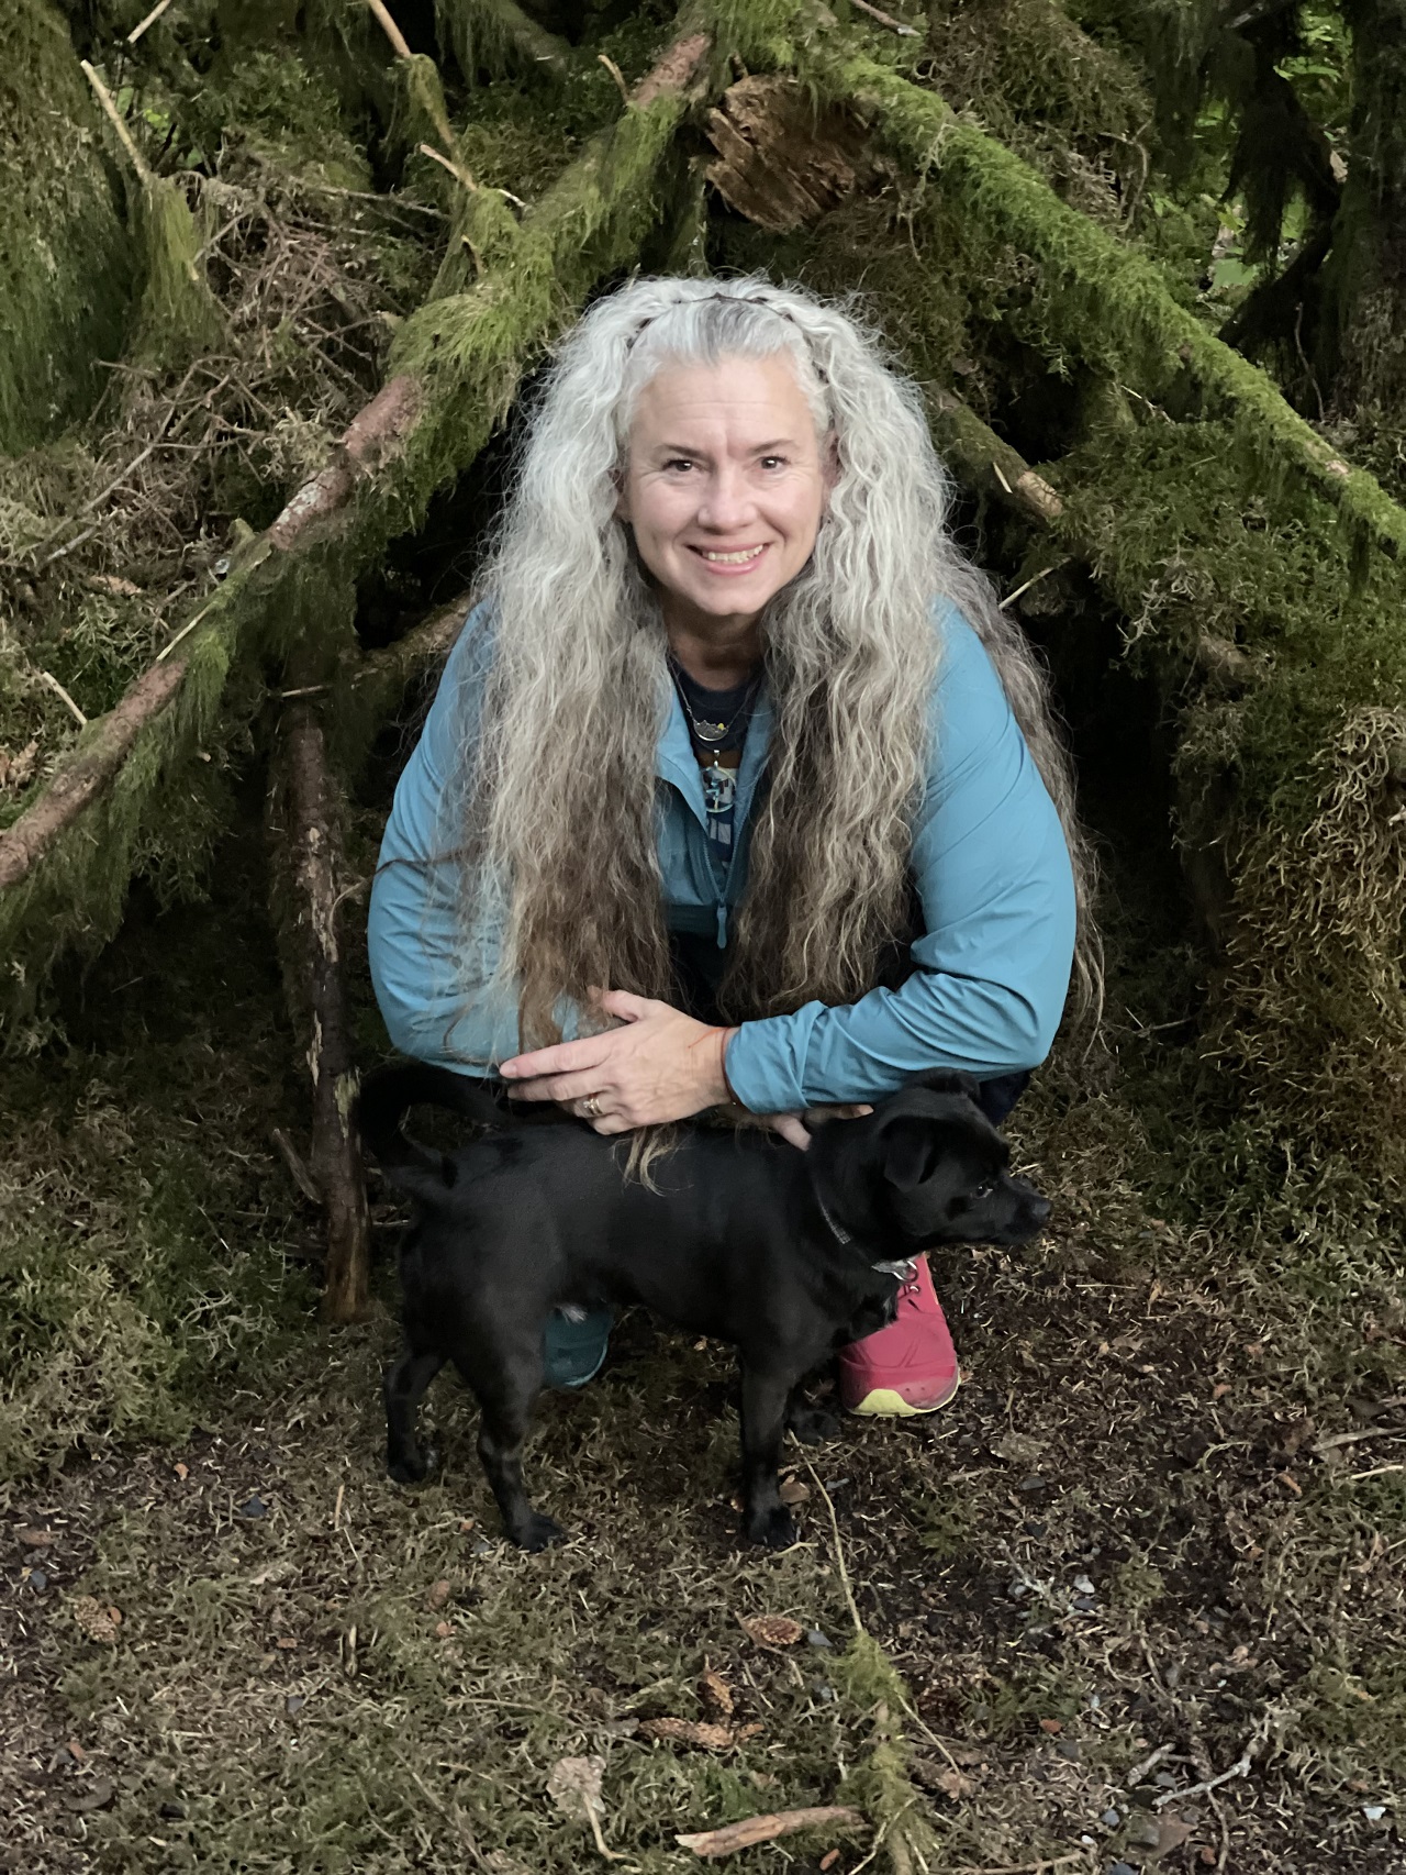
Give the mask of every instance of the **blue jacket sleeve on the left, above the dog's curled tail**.
M 476 608 L 444 666 L 381 842 L 367 949 L 392 1042 L 407 1056 L 482 1072 L 517 1052 L 516 996 L 493 986 L 499 924 L 465 930 L 459 904 L 463 797 L 457 776 L 478 733 L 489 621 Z

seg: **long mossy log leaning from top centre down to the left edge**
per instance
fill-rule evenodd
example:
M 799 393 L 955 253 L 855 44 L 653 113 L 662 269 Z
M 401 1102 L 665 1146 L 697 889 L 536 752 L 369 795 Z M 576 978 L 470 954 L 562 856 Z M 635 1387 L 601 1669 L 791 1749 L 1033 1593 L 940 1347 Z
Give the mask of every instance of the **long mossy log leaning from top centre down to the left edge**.
M 96 949 L 116 930 L 163 778 L 217 739 L 232 662 L 247 669 L 302 641 L 321 641 L 330 654 L 351 643 L 356 576 L 394 534 L 418 525 L 431 495 L 484 446 L 531 360 L 602 278 L 636 257 L 654 225 L 679 122 L 710 82 L 705 17 L 684 9 L 679 36 L 628 109 L 501 242 L 484 278 L 407 319 L 390 382 L 172 639 L 169 686 L 148 673 L 133 686 L 142 694 L 118 705 L 133 733 L 112 741 L 90 786 L 64 788 L 62 765 L 30 804 L 26 832 L 0 832 L 0 966 L 19 984 L 21 1005 L 64 945 Z M 88 737 L 96 742 L 111 728 L 101 718 Z

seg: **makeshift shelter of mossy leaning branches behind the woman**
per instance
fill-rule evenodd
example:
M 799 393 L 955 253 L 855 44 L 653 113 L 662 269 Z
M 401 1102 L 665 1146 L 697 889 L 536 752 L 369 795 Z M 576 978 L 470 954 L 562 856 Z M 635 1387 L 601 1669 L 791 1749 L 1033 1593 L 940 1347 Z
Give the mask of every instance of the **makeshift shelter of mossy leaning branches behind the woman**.
M 324 848 L 321 885 L 285 870 L 279 915 L 328 1031 L 356 902 L 336 797 L 457 617 L 367 630 L 367 591 L 592 292 L 746 264 L 862 285 L 954 476 L 1001 514 L 1010 602 L 1065 694 L 1114 666 L 1153 686 L 1226 1108 L 1400 1196 L 1406 512 L 1129 238 L 1136 99 L 1093 41 L 1042 79 L 1070 86 L 1069 137 L 1016 152 L 945 101 L 932 36 L 797 0 L 643 9 L 591 47 L 512 0 L 439 0 L 456 111 L 394 6 L 221 0 L 201 71 L 189 22 L 127 45 L 135 11 L 73 8 L 88 82 L 51 0 L 21 0 L 17 96 L 41 81 L 64 124 L 0 111 L 0 253 L 54 257 L 0 270 L 30 294 L 0 302 L 11 1046 L 43 1039 L 45 979 L 112 936 L 135 872 L 199 889 L 268 746 L 276 838 Z M 1024 11 L 1069 52 L 1057 8 Z M 39 129 L 64 152 L 45 234 Z M 345 1131 L 345 1099 L 319 1114 Z M 337 1314 L 364 1298 L 352 1213 Z

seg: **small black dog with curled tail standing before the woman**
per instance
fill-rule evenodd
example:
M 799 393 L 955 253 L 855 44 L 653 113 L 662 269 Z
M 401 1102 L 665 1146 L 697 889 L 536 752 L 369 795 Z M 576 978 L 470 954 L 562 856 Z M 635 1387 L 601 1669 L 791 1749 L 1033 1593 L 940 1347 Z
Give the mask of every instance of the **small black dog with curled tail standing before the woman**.
M 405 1354 L 386 1371 L 386 1461 L 426 1476 L 414 1421 L 454 1361 L 482 1408 L 478 1455 L 508 1536 L 542 1549 L 562 1530 L 523 1491 L 521 1451 L 542 1388 L 542 1329 L 564 1303 L 643 1303 L 729 1341 L 742 1369 L 744 1528 L 795 1541 L 776 1468 L 797 1384 L 834 1348 L 892 1320 L 907 1260 L 935 1243 L 1025 1243 L 1048 1202 L 1007 1174 L 1009 1148 L 964 1076 L 934 1076 L 862 1119 L 814 1131 L 810 1151 L 763 1131 L 692 1127 L 658 1166 L 662 1191 L 622 1174 L 617 1142 L 559 1110 L 514 1121 L 487 1086 L 392 1065 L 362 1088 L 360 1127 L 418 1204 L 401 1249 Z M 452 1153 L 401 1131 L 431 1102 L 487 1125 Z

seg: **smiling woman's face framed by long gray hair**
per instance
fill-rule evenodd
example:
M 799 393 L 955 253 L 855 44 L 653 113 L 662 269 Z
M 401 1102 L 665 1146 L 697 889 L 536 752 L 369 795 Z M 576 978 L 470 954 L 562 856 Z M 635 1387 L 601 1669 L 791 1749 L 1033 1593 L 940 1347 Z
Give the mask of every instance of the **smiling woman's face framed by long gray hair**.
M 800 572 L 834 482 L 789 358 L 666 366 L 639 396 L 617 514 L 671 626 L 754 621 Z

